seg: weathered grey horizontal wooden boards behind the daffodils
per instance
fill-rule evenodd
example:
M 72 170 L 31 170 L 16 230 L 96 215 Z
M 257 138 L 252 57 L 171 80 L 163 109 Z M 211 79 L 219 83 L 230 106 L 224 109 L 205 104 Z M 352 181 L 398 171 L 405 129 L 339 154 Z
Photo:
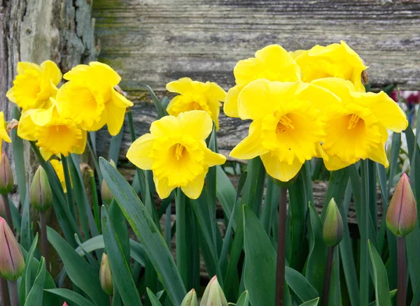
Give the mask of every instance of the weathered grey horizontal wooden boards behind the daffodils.
M 138 135 L 155 116 L 141 82 L 161 97 L 167 82 L 183 76 L 227 90 L 235 84 L 237 61 L 272 43 L 297 50 L 344 40 L 370 66 L 374 88 L 420 89 L 419 0 L 95 0 L 93 14 L 99 59 L 116 68 L 137 103 Z M 236 145 L 247 126 L 222 114 L 221 148 Z M 105 155 L 108 138 L 99 133 Z M 126 133 L 121 159 L 128 145 Z

